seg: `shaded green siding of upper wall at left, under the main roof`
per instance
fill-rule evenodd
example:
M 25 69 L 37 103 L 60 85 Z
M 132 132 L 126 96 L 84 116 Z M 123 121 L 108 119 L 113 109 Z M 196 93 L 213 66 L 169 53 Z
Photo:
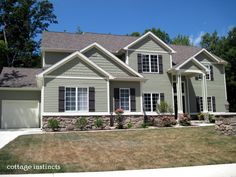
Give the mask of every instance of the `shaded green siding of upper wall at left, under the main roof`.
M 53 65 L 70 54 L 67 52 L 45 52 L 45 64 Z

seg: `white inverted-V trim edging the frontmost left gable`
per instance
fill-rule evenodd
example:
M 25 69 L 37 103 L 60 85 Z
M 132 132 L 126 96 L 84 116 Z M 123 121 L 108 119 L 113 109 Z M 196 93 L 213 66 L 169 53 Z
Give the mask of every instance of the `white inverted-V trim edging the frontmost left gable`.
M 67 63 L 68 61 L 71 61 L 72 59 L 74 59 L 76 57 L 78 57 L 79 59 L 83 60 L 86 64 L 90 65 L 92 68 L 94 68 L 99 73 L 103 74 L 104 76 L 106 76 L 106 77 L 108 77 L 110 79 L 114 78 L 112 75 L 110 75 L 108 72 L 104 71 L 102 68 L 97 66 L 95 63 L 93 63 L 91 60 L 89 60 L 87 57 L 85 57 L 79 51 L 76 51 L 76 52 L 70 54 L 69 56 L 67 56 L 63 60 L 61 60 L 61 61 L 57 62 L 56 64 L 52 65 L 51 67 L 47 68 L 42 73 L 38 74 L 37 77 L 43 77 L 43 75 L 48 74 L 48 73 L 56 70 L 57 68 L 59 68 L 63 64 Z

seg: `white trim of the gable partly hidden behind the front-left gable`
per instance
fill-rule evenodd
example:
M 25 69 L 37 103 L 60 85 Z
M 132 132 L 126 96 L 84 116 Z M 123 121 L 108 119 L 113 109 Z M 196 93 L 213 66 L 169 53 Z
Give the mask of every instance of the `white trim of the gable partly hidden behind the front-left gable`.
M 121 65 L 123 68 L 127 69 L 129 72 L 131 72 L 132 74 L 143 78 L 143 76 L 141 74 L 139 74 L 138 72 L 136 72 L 134 69 L 132 69 L 130 66 L 128 66 L 127 64 L 125 64 L 123 61 L 121 61 L 119 58 L 117 58 L 114 54 L 112 54 L 111 52 L 109 52 L 107 49 L 105 49 L 104 47 L 102 47 L 100 44 L 98 43 L 92 43 L 89 46 L 85 47 L 84 49 L 80 50 L 81 53 L 84 53 L 86 51 L 88 51 L 89 49 L 95 47 L 96 49 L 100 50 L 101 52 L 103 52 L 104 54 L 106 54 L 108 57 L 110 57 L 111 59 L 113 59 L 113 61 L 115 61 L 117 64 Z

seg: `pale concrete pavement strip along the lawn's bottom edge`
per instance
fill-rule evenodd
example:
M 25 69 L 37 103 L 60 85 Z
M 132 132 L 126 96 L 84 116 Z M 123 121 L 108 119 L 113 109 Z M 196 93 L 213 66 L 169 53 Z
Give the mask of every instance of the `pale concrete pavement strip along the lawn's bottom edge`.
M 150 170 L 127 170 L 109 172 L 82 172 L 82 173 L 51 173 L 51 174 L 22 174 L 1 175 L 1 177 L 110 177 L 110 176 L 135 176 L 135 177 L 236 177 L 236 163 L 222 165 L 205 165 L 178 168 L 160 168 Z

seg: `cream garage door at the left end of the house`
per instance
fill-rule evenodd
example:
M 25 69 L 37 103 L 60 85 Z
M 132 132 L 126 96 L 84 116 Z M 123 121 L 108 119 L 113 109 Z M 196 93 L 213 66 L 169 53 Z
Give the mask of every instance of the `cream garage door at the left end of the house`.
M 28 100 L 2 100 L 1 127 L 39 127 L 39 102 Z

